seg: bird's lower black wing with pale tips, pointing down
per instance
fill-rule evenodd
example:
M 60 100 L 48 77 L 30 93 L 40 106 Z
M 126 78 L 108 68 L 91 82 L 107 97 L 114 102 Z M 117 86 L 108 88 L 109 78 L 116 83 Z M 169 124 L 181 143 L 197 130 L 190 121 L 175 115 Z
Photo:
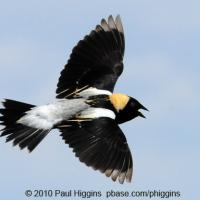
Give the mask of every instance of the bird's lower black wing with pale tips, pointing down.
M 65 140 L 81 162 L 105 173 L 120 183 L 132 178 L 132 156 L 126 138 L 110 118 L 83 121 L 71 127 L 59 127 Z

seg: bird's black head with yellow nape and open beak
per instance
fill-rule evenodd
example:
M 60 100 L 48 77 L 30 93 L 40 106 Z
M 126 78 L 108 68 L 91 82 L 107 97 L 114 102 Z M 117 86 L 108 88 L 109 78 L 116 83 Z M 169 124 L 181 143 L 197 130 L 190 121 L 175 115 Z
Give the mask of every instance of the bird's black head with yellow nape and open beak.
M 145 118 L 139 111 L 140 109 L 147 110 L 139 101 L 125 94 L 113 94 L 111 102 L 116 110 L 116 122 L 124 123 L 138 116 Z

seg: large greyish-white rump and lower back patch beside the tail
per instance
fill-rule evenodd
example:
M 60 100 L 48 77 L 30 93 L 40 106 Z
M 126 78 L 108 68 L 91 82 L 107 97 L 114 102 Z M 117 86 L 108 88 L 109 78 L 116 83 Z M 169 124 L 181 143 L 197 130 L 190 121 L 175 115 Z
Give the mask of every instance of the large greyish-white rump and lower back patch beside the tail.
M 26 112 L 17 123 L 24 124 L 37 129 L 51 129 L 62 120 L 67 120 L 79 113 L 81 110 L 87 109 L 89 105 L 84 99 L 63 99 L 54 104 L 42 105 L 34 107 Z

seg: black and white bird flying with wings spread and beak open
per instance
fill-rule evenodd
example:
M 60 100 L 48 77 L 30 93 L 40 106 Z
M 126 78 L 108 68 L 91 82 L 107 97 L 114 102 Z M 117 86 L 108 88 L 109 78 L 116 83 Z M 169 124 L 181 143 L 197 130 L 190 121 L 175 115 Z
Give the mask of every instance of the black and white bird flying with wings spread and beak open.
M 120 16 L 102 19 L 73 48 L 54 103 L 2 102 L 1 136 L 32 152 L 52 129 L 59 129 L 81 162 L 113 181 L 131 182 L 132 155 L 119 124 L 144 117 L 140 109 L 147 109 L 133 97 L 113 93 L 124 68 L 124 49 Z

